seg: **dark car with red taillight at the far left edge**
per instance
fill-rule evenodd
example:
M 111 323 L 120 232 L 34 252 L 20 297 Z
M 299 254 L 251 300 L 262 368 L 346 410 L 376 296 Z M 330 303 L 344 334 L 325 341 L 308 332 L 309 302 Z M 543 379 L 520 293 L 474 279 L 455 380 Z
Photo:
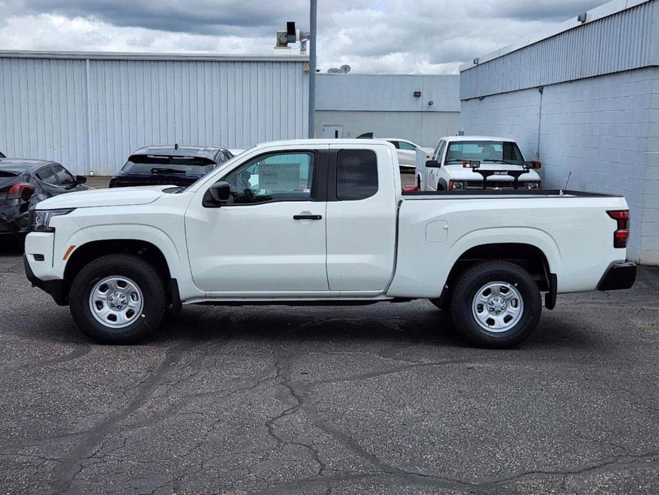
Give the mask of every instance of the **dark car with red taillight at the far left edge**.
M 59 163 L 0 158 L 0 237 L 23 238 L 31 205 L 52 196 L 87 190 L 87 178 L 74 177 Z

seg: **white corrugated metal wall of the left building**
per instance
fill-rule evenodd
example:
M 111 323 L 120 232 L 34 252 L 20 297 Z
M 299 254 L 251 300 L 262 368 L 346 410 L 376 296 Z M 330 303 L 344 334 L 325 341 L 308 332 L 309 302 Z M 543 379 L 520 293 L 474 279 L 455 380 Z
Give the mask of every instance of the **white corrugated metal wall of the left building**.
M 0 53 L 0 150 L 112 175 L 132 150 L 307 136 L 305 59 Z

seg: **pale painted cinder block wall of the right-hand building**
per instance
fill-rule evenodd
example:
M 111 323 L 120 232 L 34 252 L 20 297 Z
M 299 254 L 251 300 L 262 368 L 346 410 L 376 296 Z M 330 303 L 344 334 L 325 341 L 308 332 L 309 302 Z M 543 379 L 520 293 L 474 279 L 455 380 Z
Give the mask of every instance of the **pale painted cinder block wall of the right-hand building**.
M 547 188 L 571 173 L 571 189 L 625 195 L 628 256 L 659 265 L 659 68 L 465 100 L 461 121 L 466 134 L 515 138 Z

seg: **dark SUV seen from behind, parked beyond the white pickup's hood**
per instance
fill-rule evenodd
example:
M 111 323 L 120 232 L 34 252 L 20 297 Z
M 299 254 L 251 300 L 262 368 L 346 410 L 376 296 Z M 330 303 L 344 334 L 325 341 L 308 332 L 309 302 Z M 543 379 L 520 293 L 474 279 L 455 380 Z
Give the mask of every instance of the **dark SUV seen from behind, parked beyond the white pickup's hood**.
M 121 172 L 110 179 L 111 188 L 131 185 L 190 185 L 233 158 L 225 148 L 198 146 L 146 146 L 128 157 Z

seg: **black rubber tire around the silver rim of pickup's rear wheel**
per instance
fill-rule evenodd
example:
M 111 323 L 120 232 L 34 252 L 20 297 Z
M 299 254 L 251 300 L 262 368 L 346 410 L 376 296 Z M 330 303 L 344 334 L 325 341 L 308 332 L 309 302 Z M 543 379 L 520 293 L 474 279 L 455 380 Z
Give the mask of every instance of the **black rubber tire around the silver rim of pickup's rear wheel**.
M 486 330 L 474 315 L 474 312 L 478 312 L 478 308 L 484 307 L 484 305 L 476 305 L 474 309 L 476 295 L 485 294 L 487 290 L 481 292 L 481 288 L 494 282 L 506 282 L 514 287 L 521 297 L 519 306 L 521 315 L 516 323 L 514 323 L 515 318 L 511 318 L 508 325 L 512 323 L 514 325 L 507 330 L 506 325 L 502 327 L 502 331 Z M 501 293 L 504 290 L 506 289 L 502 288 Z M 496 292 L 490 292 L 489 297 L 494 296 Z M 512 305 L 511 302 L 508 304 Z M 520 303 L 516 302 L 516 304 Z M 456 330 L 464 339 L 477 347 L 504 349 L 520 344 L 536 329 L 541 313 L 542 300 L 536 282 L 522 267 L 506 261 L 484 262 L 466 270 L 457 280 L 451 297 L 451 318 Z M 489 317 L 485 310 L 481 314 L 484 318 Z M 494 317 L 494 314 L 492 316 Z M 496 325 L 495 318 L 489 318 L 489 322 L 491 325 Z M 483 325 L 487 325 L 487 322 Z

